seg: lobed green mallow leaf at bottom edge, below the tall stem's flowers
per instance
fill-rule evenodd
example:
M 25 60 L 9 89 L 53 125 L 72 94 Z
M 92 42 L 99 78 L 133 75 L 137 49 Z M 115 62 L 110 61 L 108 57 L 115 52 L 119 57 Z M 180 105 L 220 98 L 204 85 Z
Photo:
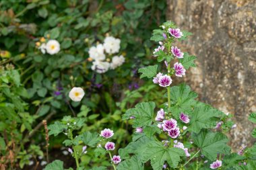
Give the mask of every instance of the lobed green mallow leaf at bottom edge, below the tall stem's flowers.
M 181 148 L 169 148 L 162 144 L 162 142 L 150 142 L 146 146 L 146 150 L 143 153 L 142 161 L 146 163 L 150 160 L 150 163 L 154 170 L 162 170 L 162 165 L 166 161 L 172 168 L 177 168 L 181 157 L 184 157 L 185 153 Z

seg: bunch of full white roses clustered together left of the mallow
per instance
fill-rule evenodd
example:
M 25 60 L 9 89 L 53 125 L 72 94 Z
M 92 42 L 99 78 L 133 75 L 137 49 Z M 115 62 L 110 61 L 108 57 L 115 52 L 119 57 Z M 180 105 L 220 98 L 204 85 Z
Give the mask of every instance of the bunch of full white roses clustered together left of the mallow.
M 89 49 L 90 58 L 93 60 L 91 69 L 97 73 L 106 73 L 108 69 L 116 69 L 123 65 L 123 62 L 125 62 L 123 55 L 113 56 L 111 62 L 110 58 L 106 58 L 106 55 L 110 57 L 112 54 L 119 52 L 120 42 L 118 38 L 107 36 L 103 44 L 92 46 Z M 104 54 L 104 52 L 106 52 L 106 54 Z

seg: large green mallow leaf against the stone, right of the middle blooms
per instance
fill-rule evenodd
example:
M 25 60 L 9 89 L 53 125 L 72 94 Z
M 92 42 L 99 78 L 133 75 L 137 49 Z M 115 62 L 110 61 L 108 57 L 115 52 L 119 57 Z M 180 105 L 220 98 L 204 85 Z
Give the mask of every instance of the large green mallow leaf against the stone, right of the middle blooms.
M 221 114 L 223 113 L 212 108 L 210 105 L 198 103 L 190 114 L 191 121 L 187 130 L 198 133 L 202 128 L 214 128 Z

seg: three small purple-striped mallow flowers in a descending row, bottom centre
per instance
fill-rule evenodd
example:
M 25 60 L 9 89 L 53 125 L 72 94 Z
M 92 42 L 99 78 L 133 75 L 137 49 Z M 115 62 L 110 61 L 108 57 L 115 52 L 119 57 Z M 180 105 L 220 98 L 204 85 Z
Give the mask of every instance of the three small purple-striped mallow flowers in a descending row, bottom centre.
M 107 129 L 107 128 L 105 128 L 104 130 L 102 130 L 102 131 L 100 132 L 100 136 L 102 136 L 103 138 L 111 138 L 113 135 L 114 135 L 113 130 L 110 130 L 110 129 Z M 106 142 L 106 144 L 105 144 L 105 148 L 106 148 L 106 151 L 114 151 L 114 150 L 115 150 L 115 143 L 108 141 L 108 142 Z M 111 161 L 112 161 L 114 164 L 121 163 L 121 157 L 120 157 L 119 155 L 114 155 L 114 156 L 111 158 Z

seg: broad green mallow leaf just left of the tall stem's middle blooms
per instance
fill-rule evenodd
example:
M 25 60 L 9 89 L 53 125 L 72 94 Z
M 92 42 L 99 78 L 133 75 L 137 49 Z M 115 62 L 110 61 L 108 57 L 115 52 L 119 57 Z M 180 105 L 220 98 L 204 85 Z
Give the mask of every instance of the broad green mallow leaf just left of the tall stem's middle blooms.
M 123 120 L 134 116 L 133 127 L 150 126 L 152 124 L 155 107 L 156 104 L 153 101 L 138 103 L 135 105 L 135 108 L 131 108 L 125 112 Z

